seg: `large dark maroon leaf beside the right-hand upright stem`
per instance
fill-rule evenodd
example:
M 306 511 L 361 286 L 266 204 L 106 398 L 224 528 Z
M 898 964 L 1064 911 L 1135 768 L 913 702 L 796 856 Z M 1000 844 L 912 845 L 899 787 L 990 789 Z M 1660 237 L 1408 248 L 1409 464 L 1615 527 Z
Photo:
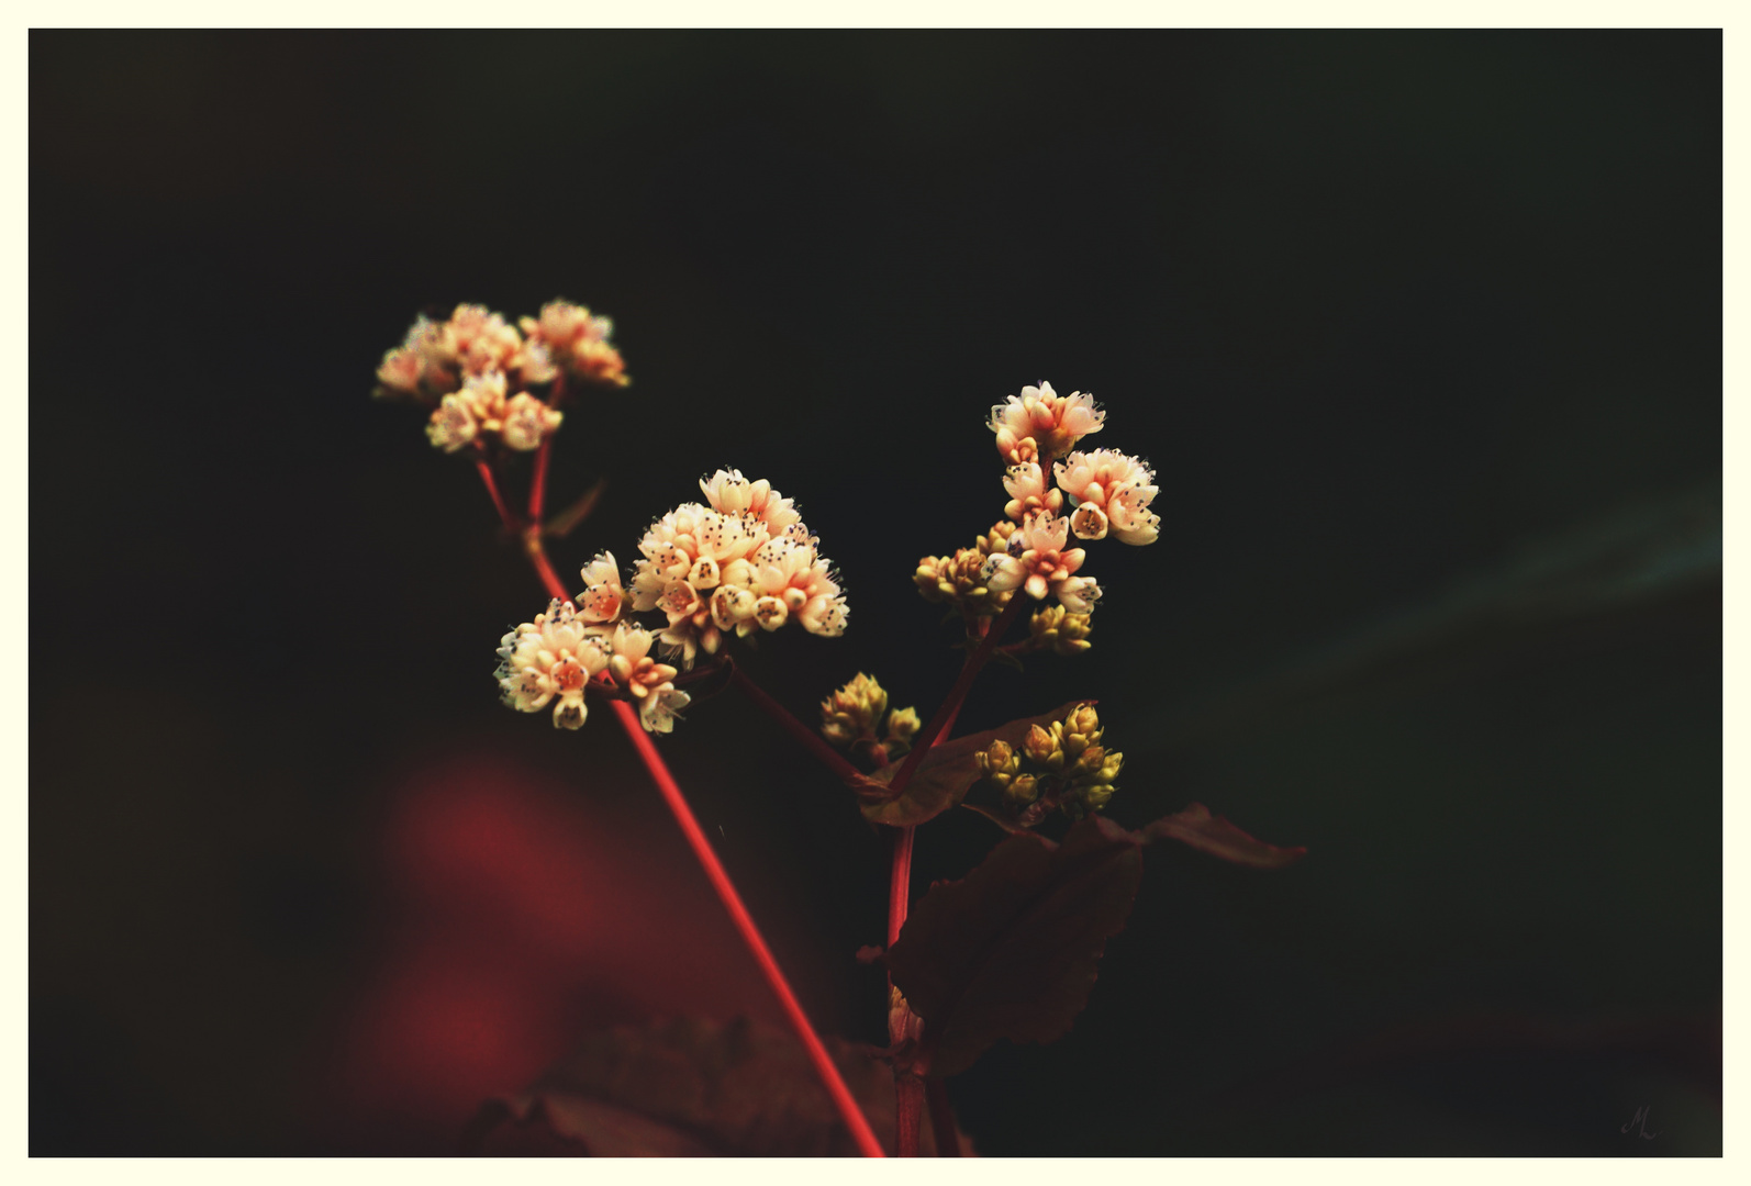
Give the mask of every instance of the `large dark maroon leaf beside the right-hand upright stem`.
M 1010 836 L 967 878 L 925 894 L 888 969 L 925 1018 L 930 1074 L 968 1069 L 1000 1037 L 1049 1043 L 1070 1029 L 1131 913 L 1142 845 L 1094 815 L 1061 845 Z

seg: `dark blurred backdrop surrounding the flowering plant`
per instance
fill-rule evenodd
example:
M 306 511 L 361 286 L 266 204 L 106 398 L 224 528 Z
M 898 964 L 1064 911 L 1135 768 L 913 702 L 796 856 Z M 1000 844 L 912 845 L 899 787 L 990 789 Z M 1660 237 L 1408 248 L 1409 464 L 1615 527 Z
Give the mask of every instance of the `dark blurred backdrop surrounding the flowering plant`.
M 545 598 L 368 399 L 555 296 L 636 380 L 557 565 L 770 478 L 853 607 L 748 659 L 802 715 L 947 689 L 989 404 L 1156 465 L 1094 651 L 965 728 L 1100 696 L 1114 819 L 1310 855 L 1150 850 L 981 1151 L 1719 1153 L 1719 33 L 33 31 L 30 210 L 32 1153 L 443 1153 L 585 1029 L 770 1016 L 616 729 L 496 703 Z M 884 840 L 734 694 L 664 752 L 877 1039 Z

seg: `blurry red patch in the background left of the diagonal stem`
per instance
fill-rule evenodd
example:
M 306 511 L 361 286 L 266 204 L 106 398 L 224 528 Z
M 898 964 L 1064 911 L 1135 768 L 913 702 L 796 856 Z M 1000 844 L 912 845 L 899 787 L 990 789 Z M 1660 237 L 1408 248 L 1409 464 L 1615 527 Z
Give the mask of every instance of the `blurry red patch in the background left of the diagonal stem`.
M 592 810 L 590 789 L 497 754 L 390 791 L 382 946 L 326 1076 L 338 1128 L 459 1134 L 602 1025 L 779 1022 L 655 794 L 650 808 Z

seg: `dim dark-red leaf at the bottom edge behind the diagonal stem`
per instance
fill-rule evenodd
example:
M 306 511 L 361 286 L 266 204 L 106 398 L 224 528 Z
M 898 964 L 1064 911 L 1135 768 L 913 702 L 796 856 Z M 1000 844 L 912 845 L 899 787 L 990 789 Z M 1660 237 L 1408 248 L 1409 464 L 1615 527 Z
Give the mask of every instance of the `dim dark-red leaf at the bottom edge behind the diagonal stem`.
M 893 1072 L 867 1046 L 823 1041 L 893 1155 Z M 925 1156 L 935 1155 L 928 1125 L 919 1144 Z M 489 1100 L 466 1149 L 496 1156 L 856 1156 L 797 1039 L 746 1018 L 676 1018 L 590 1034 L 522 1095 Z

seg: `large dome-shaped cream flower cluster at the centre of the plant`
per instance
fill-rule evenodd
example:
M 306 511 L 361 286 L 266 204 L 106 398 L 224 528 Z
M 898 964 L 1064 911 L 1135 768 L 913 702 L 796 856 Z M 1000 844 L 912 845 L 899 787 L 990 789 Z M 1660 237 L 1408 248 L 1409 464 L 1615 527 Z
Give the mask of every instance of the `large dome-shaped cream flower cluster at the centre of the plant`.
M 809 633 L 842 635 L 846 598 L 790 499 L 737 469 L 699 488 L 706 504 L 683 502 L 644 532 L 632 574 L 632 609 L 669 617 L 658 635 L 665 651 L 693 666 L 700 651 L 718 652 L 725 633 L 793 619 Z

